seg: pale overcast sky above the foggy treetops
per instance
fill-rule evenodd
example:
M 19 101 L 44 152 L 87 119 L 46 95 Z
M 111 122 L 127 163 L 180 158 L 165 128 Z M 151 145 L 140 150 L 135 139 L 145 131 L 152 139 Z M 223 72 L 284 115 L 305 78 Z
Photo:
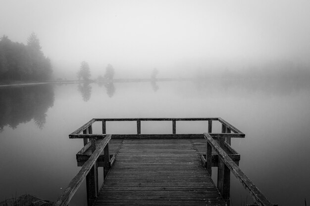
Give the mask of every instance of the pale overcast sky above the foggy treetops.
M 128 68 L 310 56 L 309 0 L 0 0 L 0 36 L 55 64 Z

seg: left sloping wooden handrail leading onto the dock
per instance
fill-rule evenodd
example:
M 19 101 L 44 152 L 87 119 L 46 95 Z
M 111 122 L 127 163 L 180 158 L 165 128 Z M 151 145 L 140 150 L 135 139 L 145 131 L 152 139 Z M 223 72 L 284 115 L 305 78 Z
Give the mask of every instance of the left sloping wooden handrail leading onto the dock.
M 96 150 L 93 152 L 91 157 L 85 162 L 81 170 L 75 175 L 71 180 L 68 187 L 64 190 L 63 194 L 56 200 L 54 206 L 67 206 L 70 200 L 77 191 L 77 189 L 82 184 L 82 181 L 86 178 L 87 174 L 90 172 L 92 167 L 94 167 L 100 154 L 103 152 L 104 148 L 108 145 L 111 139 L 111 134 L 107 134 L 103 140 L 97 145 Z

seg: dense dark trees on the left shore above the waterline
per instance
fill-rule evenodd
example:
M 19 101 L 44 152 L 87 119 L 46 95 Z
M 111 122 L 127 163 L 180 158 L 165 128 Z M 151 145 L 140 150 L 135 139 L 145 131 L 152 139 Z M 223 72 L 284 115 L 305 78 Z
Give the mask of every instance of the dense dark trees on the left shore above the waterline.
M 51 78 L 52 64 L 41 50 L 35 33 L 27 44 L 0 38 L 0 81 L 46 81 Z

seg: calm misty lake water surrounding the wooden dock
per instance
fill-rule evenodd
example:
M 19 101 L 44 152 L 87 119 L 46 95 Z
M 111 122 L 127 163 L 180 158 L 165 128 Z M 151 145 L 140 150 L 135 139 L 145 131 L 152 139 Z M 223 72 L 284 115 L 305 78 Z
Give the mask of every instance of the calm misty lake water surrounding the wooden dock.
M 305 198 L 310 203 L 309 103 L 307 81 L 0 88 L 0 200 L 26 193 L 56 200 L 80 168 L 75 154 L 83 141 L 68 134 L 92 118 L 221 117 L 246 134 L 233 139 L 232 146 L 241 154 L 240 167 L 262 193 L 281 206 L 304 206 Z M 150 126 L 142 124 L 142 132 L 171 132 L 171 123 Z M 204 126 L 177 123 L 177 132 L 201 133 Z M 107 127 L 107 133 L 136 131 L 135 124 L 124 123 L 122 130 Z M 234 206 L 251 199 L 234 178 L 231 197 Z M 72 204 L 86 205 L 85 184 Z

